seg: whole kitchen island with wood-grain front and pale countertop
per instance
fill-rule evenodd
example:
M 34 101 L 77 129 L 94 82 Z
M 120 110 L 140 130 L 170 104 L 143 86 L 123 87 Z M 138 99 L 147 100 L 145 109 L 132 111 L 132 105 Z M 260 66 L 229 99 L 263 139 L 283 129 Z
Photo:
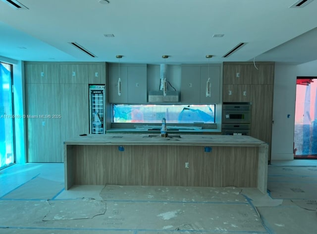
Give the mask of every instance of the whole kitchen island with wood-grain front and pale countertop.
M 268 145 L 250 136 L 105 134 L 64 142 L 73 185 L 258 187 L 266 193 Z

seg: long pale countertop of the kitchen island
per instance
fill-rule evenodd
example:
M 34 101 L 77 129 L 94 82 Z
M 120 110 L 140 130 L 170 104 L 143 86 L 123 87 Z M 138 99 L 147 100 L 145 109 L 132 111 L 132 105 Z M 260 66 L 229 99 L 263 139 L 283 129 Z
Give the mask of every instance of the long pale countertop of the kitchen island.
M 209 145 L 209 146 L 259 146 L 265 143 L 250 136 L 227 135 L 175 135 L 159 134 L 105 134 L 87 135 L 66 140 L 71 145 Z

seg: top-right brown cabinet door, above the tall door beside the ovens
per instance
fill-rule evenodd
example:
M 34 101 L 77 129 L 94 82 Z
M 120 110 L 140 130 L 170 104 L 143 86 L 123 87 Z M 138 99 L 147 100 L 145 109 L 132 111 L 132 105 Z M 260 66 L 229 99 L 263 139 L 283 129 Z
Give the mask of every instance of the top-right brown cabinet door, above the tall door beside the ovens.
M 253 67 L 252 84 L 273 85 L 274 84 L 274 63 L 257 64 L 259 70 Z

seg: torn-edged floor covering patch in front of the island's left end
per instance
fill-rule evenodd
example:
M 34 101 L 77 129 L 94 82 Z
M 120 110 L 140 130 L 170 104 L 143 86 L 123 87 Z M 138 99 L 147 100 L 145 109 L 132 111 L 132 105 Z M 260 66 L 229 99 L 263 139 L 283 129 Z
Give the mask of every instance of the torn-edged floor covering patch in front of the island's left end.
M 51 209 L 43 221 L 92 219 L 105 214 L 106 202 L 84 198 L 81 200 L 48 201 Z

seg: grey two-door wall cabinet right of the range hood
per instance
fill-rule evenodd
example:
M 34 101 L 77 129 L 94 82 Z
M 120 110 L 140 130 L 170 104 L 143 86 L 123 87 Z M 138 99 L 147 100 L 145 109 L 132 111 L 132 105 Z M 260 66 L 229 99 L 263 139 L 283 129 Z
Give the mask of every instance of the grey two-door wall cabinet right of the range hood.
M 209 70 L 209 72 L 208 72 Z M 209 76 L 208 76 L 209 73 Z M 211 78 L 211 96 L 206 96 L 206 85 Z M 219 103 L 220 65 L 193 65 L 181 67 L 182 103 Z

